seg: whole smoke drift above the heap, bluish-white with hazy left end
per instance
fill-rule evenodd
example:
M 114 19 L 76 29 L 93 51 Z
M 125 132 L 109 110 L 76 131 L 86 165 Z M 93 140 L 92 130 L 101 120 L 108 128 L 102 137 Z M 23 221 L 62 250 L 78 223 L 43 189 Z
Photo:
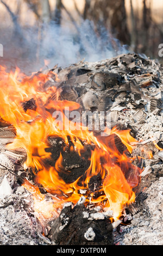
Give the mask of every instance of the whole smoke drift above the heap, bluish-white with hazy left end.
M 97 62 L 102 59 L 127 53 L 127 46 L 112 38 L 103 25 L 98 32 L 92 21 L 82 20 L 73 26 L 67 22 L 58 26 L 55 22 L 48 25 L 37 23 L 34 27 L 20 27 L 18 31 L 5 30 L 1 44 L 4 48 L 4 63 L 17 65 L 24 72 L 33 72 L 44 66 L 48 68 L 58 64 L 62 68 L 84 59 Z M 2 60 L 2 58 L 1 58 Z

